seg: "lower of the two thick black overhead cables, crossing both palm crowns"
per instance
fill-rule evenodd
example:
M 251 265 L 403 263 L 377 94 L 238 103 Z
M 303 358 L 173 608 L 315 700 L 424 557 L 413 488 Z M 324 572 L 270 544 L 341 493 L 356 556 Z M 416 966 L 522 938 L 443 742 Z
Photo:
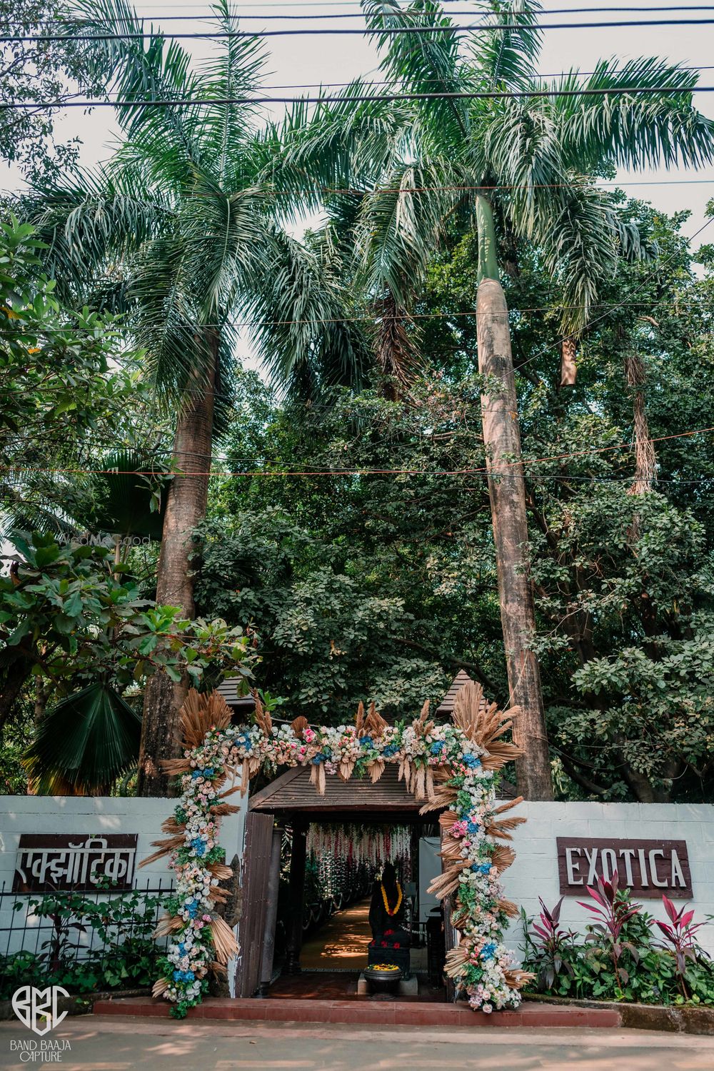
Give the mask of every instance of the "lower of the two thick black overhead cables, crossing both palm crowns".
M 712 19 L 714 22 L 714 19 Z M 1 40 L 1 39 L 0 39 Z M 464 92 L 464 93 L 359 93 L 350 96 L 213 96 L 176 97 L 173 100 L 127 100 L 127 101 L 25 101 L 0 104 L 0 110 L 18 108 L 137 108 L 137 107 L 192 107 L 225 104 L 376 104 L 390 101 L 499 101 L 553 96 L 632 96 L 659 94 L 662 96 L 683 96 L 690 93 L 714 93 L 714 86 L 611 86 L 602 89 L 525 89 L 512 91 Z

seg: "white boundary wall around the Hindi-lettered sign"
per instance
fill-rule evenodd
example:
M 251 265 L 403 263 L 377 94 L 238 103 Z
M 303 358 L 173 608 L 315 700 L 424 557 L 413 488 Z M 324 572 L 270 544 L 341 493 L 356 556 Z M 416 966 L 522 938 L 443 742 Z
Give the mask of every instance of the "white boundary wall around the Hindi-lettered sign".
M 243 855 L 243 827 L 247 797 L 241 800 L 238 793 L 231 802 L 240 805 L 237 814 L 226 815 L 221 820 L 218 843 L 226 849 L 226 859 Z M 161 884 L 168 890 L 172 872 L 164 856 L 149 866 L 139 870 L 139 863 L 152 855 L 156 848 L 151 842 L 166 834 L 162 823 L 168 818 L 178 800 L 145 799 L 135 797 L 103 796 L 0 796 L 0 889 L 4 883 L 5 893 L 12 891 L 13 875 L 17 858 L 17 846 L 21 833 L 73 833 L 101 836 L 104 833 L 136 833 L 137 850 L 134 871 L 134 886 L 139 890 L 147 885 L 152 888 Z M 27 900 L 36 900 L 41 893 L 28 893 Z M 93 896 L 94 893 L 86 893 Z M 25 899 L 20 894 L 20 899 Z M 14 927 L 21 929 L 20 911 L 15 912 Z M 0 927 L 10 925 L 12 896 L 2 897 Z M 13 934 L 11 951 L 17 947 Z M 7 934 L 0 931 L 0 953 L 5 952 Z

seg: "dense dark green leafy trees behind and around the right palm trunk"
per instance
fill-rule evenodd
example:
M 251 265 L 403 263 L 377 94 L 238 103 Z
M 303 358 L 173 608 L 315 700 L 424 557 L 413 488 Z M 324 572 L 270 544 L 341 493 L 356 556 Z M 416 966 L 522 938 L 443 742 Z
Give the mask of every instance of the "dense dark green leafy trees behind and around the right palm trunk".
M 714 406 L 711 268 L 693 271 L 681 215 L 618 196 L 662 256 L 604 285 L 575 384 L 560 386 L 560 288 L 537 248 L 512 245 L 504 277 L 551 759 L 565 797 L 707 800 L 714 452 L 710 435 L 669 436 L 707 424 Z M 460 666 L 507 702 L 481 380 L 469 375 L 473 242 L 456 231 L 429 267 L 415 312 L 432 367 L 409 397 L 377 386 L 306 405 L 239 378 L 225 467 L 246 474 L 213 480 L 197 605 L 260 622 L 259 683 L 312 721 L 338 723 L 373 697 L 399 716 L 440 699 Z M 631 352 L 656 440 L 640 495 Z M 310 470 L 341 474 L 289 474 Z

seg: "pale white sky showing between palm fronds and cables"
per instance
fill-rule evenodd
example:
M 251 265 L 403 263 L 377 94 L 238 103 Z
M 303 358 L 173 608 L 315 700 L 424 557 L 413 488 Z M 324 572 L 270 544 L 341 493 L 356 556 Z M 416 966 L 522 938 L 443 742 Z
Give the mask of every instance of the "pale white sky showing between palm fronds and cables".
M 648 7 L 644 0 L 629 0 L 632 6 L 637 6 L 641 11 L 642 18 L 656 17 L 656 7 Z M 657 0 L 663 6 L 663 0 Z M 678 0 L 673 0 L 678 2 Z M 683 0 L 681 0 L 683 2 Z M 618 13 L 608 9 L 625 6 L 627 0 L 544 0 L 545 11 L 553 9 L 567 9 L 573 12 L 567 15 L 544 14 L 542 21 L 547 22 L 587 22 L 634 20 L 640 17 L 637 12 Z M 250 4 L 237 2 L 238 11 L 245 16 L 242 29 L 261 30 L 277 29 L 287 26 L 321 28 L 329 26 L 362 26 L 361 19 L 339 19 L 329 21 L 320 19 L 317 22 L 293 21 L 277 22 L 274 20 L 261 21 L 261 15 L 279 15 L 289 12 L 295 13 L 334 13 L 358 11 L 356 2 L 332 3 L 321 2 L 304 3 L 298 6 L 294 3 L 272 4 L 258 3 L 253 0 Z M 459 12 L 473 12 L 477 14 L 477 7 L 469 0 L 458 0 L 445 5 L 447 9 Z M 602 12 L 576 14 L 577 7 L 603 9 Z M 137 11 L 147 19 L 151 19 L 156 27 L 162 26 L 162 16 L 208 14 L 210 12 L 208 3 L 188 3 L 182 0 L 180 3 L 169 4 L 167 2 L 139 2 Z M 663 12 L 663 18 L 697 18 L 707 17 L 712 12 Z M 248 19 L 248 16 L 252 16 Z M 257 17 L 256 17 L 257 16 Z M 469 15 L 456 18 L 461 25 L 470 21 Z M 206 28 L 204 22 L 196 21 L 188 17 L 186 21 L 164 22 L 167 32 L 195 32 Z M 211 45 L 207 42 L 187 41 L 184 47 L 189 49 L 195 56 L 206 55 Z M 324 84 L 345 82 L 358 75 L 366 75 L 374 72 L 377 65 L 377 55 L 369 42 L 360 35 L 349 36 L 319 36 L 319 37 L 273 37 L 268 41 L 271 60 L 268 71 L 271 72 L 267 78 L 268 86 L 294 85 L 294 84 Z M 544 74 L 557 74 L 569 67 L 578 67 L 582 71 L 591 71 L 597 59 L 608 58 L 612 55 L 621 60 L 637 58 L 640 56 L 658 56 L 671 61 L 680 61 L 692 66 L 713 66 L 714 67 L 714 25 L 712 26 L 681 26 L 681 27 L 624 27 L 622 29 L 571 29 L 544 31 L 544 46 L 541 59 L 541 72 Z M 377 76 L 379 77 L 379 76 Z M 702 71 L 700 75 L 702 86 L 714 85 L 714 69 Z M 289 95 L 292 91 L 275 91 L 275 95 Z M 295 90 L 295 95 L 300 90 Z M 714 117 L 714 93 L 699 93 L 696 96 L 697 106 L 708 116 Z M 82 141 L 81 161 L 83 164 L 93 166 L 109 154 L 110 145 L 117 137 L 117 129 L 112 123 L 112 116 L 107 108 L 97 108 L 94 112 L 85 115 L 81 109 L 67 109 L 57 120 L 57 133 L 60 139 L 79 137 Z M 684 226 L 684 232 L 693 235 L 705 222 L 705 206 L 708 200 L 714 196 L 714 168 L 709 167 L 700 171 L 666 171 L 649 170 L 637 175 L 620 172 L 618 176 L 625 190 L 632 196 L 642 197 L 652 200 L 664 211 L 673 212 L 680 209 L 689 209 L 690 218 Z M 672 179 L 699 180 L 692 184 L 663 184 L 655 183 L 671 181 Z M 638 184 L 631 184 L 637 180 Z M 702 181 L 704 180 L 704 181 Z M 1 181 L 1 178 L 0 178 Z M 647 183 L 650 184 L 647 184 Z M 16 186 L 17 177 L 14 174 L 7 176 L 4 183 Z M 701 241 L 714 241 L 714 224 L 705 231 Z M 695 242 L 697 245 L 698 242 Z

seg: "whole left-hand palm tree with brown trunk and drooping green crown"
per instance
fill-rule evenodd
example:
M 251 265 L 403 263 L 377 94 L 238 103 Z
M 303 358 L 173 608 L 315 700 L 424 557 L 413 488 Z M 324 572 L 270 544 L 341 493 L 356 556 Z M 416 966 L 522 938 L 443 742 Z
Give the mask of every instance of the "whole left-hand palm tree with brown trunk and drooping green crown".
M 225 0 L 214 12 L 221 30 L 236 29 Z M 156 600 L 193 617 L 192 533 L 206 514 L 214 437 L 230 406 L 236 318 L 258 319 L 253 337 L 264 360 L 303 389 L 359 381 L 364 345 L 340 321 L 345 298 L 329 265 L 279 225 L 290 198 L 274 195 L 273 147 L 257 105 L 225 103 L 258 92 L 259 42 L 223 39 L 192 70 L 176 42 L 127 36 L 143 24 L 123 0 L 80 0 L 71 25 L 75 33 L 119 35 L 88 48 L 97 74 L 109 73 L 108 88 L 136 104 L 118 109 L 123 140 L 101 172 L 36 191 L 28 211 L 75 300 L 95 296 L 92 277 L 103 275 L 98 292 L 125 313 L 176 414 Z M 164 674 L 147 688 L 140 795 L 167 791 L 159 761 L 178 753 L 185 691 Z

